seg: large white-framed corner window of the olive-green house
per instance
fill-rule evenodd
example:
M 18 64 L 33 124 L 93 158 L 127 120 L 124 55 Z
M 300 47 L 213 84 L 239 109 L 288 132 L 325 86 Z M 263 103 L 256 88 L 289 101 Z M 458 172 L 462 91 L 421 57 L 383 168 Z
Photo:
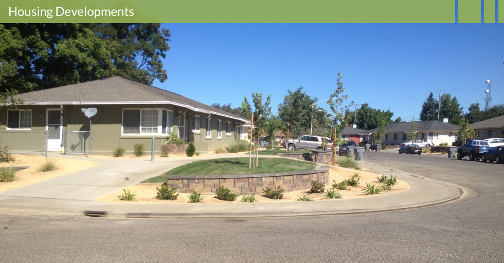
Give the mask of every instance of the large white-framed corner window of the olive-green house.
M 173 113 L 163 109 L 122 111 L 122 134 L 164 134 L 172 131 Z

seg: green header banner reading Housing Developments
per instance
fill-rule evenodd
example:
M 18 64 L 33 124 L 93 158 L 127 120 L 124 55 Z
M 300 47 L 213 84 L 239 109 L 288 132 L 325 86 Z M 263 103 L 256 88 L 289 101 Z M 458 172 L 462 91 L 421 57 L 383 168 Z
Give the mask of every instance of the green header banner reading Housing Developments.
M 466 23 L 480 23 L 475 1 Z M 0 23 L 456 23 L 456 12 L 455 0 L 3 0 Z

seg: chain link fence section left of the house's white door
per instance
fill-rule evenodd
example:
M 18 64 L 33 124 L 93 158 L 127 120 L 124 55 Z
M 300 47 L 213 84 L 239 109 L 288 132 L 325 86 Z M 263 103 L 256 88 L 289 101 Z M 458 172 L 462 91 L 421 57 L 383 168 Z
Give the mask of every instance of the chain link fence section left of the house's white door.
M 33 131 L 0 132 L 0 147 L 13 154 L 41 154 L 47 156 L 47 133 Z

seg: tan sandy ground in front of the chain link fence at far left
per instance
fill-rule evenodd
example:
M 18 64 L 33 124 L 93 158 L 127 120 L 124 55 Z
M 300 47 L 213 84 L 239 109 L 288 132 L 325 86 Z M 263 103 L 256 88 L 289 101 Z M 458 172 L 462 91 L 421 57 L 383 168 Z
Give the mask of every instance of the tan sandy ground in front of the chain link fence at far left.
M 39 181 L 51 179 L 61 175 L 81 171 L 98 165 L 97 161 L 91 160 L 70 160 L 62 158 L 47 158 L 55 161 L 58 169 L 50 172 L 40 172 L 40 167 L 45 164 L 46 157 L 41 155 L 18 155 L 12 154 L 15 161 L 9 163 L 0 163 L 0 167 L 18 167 L 28 166 L 27 169 L 15 173 L 16 179 L 11 182 L 0 182 L 0 192 L 10 189 L 38 183 Z

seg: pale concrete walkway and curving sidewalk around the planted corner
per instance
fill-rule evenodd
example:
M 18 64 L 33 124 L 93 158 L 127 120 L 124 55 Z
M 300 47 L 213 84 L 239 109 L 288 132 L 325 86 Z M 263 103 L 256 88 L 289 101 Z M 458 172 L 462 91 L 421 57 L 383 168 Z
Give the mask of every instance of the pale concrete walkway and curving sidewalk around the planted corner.
M 63 156 L 64 158 L 71 158 Z M 240 204 L 125 204 L 93 200 L 120 191 L 147 178 L 197 159 L 244 157 L 240 155 L 205 155 L 195 158 L 95 159 L 100 165 L 84 171 L 41 181 L 0 193 L 0 209 L 57 211 L 83 214 L 100 211 L 114 217 L 263 217 L 363 213 L 430 206 L 471 198 L 472 189 L 421 178 L 394 169 L 399 180 L 411 189 L 390 195 L 315 202 L 240 203 Z M 387 174 L 387 168 L 366 161 L 361 166 Z

